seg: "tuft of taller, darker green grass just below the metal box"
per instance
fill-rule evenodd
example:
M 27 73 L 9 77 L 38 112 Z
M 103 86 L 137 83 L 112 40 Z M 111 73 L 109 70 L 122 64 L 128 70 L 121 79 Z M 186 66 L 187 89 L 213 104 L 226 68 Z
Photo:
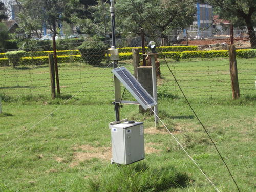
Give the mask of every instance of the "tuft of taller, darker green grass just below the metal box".
M 88 179 L 88 191 L 165 191 L 187 186 L 188 176 L 171 165 L 148 166 L 144 162 L 109 165 L 103 174 Z

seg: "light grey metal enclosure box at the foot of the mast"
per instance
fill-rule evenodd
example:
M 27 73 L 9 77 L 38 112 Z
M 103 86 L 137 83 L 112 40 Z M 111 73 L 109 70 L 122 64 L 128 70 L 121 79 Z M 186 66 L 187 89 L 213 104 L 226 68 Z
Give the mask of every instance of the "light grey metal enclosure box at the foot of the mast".
M 145 158 L 143 122 L 110 124 L 112 163 L 131 164 Z

